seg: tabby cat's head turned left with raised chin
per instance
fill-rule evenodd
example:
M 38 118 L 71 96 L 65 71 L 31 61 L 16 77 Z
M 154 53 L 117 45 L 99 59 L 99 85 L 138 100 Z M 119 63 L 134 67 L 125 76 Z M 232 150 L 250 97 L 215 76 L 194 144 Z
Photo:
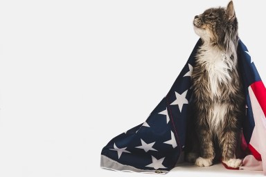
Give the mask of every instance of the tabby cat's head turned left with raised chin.
M 227 8 L 209 8 L 203 14 L 196 15 L 194 29 L 202 41 L 222 50 L 227 50 L 238 41 L 238 20 L 230 1 Z

